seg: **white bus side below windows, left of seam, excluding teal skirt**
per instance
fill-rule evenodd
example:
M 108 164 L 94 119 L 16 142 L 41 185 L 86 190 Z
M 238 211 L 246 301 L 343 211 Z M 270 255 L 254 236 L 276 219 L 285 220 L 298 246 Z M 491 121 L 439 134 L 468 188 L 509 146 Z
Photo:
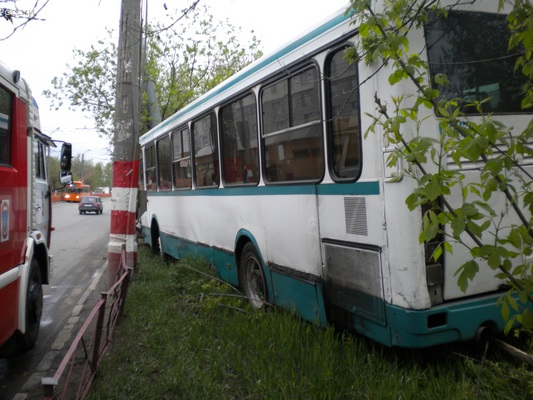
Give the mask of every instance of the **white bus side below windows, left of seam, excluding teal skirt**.
M 322 265 L 316 196 L 308 187 L 305 190 L 304 194 L 295 194 L 298 190 L 294 187 L 148 193 L 148 211 L 141 223 L 149 227 L 155 216 L 161 236 L 228 254 L 235 251 L 237 233 L 244 229 L 255 238 L 265 264 L 291 267 L 319 277 Z M 267 237 L 265 232 L 274 234 Z M 180 257 L 184 256 L 185 245 L 181 244 Z M 307 251 L 302 253 L 299 249 Z

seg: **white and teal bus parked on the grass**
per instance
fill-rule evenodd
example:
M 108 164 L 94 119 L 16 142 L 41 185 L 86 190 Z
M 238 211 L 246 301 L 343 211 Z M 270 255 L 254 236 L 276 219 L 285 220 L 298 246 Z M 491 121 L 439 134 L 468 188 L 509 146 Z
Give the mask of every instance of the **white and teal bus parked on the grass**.
M 497 3 L 452 9 L 414 32 L 411 47 L 449 76 L 450 96 L 490 90 L 492 112 L 520 129 L 531 116 L 520 110 L 515 59 L 497 56 L 508 40 Z M 257 309 L 274 304 L 387 346 L 502 331 L 502 281 L 487 268 L 459 289 L 468 251 L 431 259 L 418 240 L 422 211 L 405 204 L 414 183 L 393 179 L 391 147 L 364 135 L 375 94 L 392 104 L 407 84 L 391 87 L 387 67 L 350 64 L 357 34 L 340 10 L 144 134 L 144 240 L 175 258 L 205 257 Z M 435 119 L 424 128 L 438 137 Z

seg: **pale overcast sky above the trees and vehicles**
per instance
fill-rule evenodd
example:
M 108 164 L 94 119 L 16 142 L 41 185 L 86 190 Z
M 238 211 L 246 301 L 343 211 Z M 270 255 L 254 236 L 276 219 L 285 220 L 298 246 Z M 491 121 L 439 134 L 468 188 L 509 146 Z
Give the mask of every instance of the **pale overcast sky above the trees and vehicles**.
M 0 0 L 0 9 L 33 9 L 37 0 Z M 164 16 L 163 4 L 169 9 L 185 8 L 192 0 L 146 0 L 148 20 Z M 39 6 L 46 0 L 38 0 Z M 209 5 L 217 20 L 228 19 L 243 32 L 254 30 L 265 53 L 312 27 L 334 12 L 345 8 L 348 0 L 200 0 Z M 54 139 L 67 140 L 74 155 L 85 153 L 94 162 L 109 161 L 107 141 L 92 129 L 92 119 L 81 112 L 50 110 L 43 91 L 51 89 L 51 80 L 66 72 L 72 63 L 74 48 L 88 50 L 98 39 L 106 38 L 106 27 L 118 30 L 120 0 L 49 0 L 32 21 L 6 40 L 0 40 L 0 61 L 21 71 L 39 104 L 41 129 Z M 0 17 L 1 18 L 1 17 Z M 14 24 L 20 23 L 14 20 Z M 9 35 L 12 24 L 0 19 L 0 39 Z

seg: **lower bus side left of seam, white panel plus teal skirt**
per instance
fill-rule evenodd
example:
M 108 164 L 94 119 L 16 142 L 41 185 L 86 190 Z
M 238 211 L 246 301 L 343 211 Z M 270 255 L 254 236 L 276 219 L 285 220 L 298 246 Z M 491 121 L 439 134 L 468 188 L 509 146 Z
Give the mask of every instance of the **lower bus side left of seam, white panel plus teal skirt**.
M 302 190 L 304 193 L 300 193 Z M 325 324 L 322 287 L 318 284 L 322 265 L 317 198 L 312 186 L 205 189 L 148 196 L 148 210 L 141 221 L 146 227 L 144 236 L 151 242 L 147 227 L 152 220 L 157 221 L 165 253 L 177 258 L 200 255 L 216 265 L 221 279 L 238 284 L 235 239 L 239 232 L 246 231 L 263 259 L 269 300 L 298 311 L 310 321 Z M 267 237 L 265 232 L 275 234 Z M 270 274 L 270 265 L 294 273 Z M 291 300 L 295 293 L 298 298 Z

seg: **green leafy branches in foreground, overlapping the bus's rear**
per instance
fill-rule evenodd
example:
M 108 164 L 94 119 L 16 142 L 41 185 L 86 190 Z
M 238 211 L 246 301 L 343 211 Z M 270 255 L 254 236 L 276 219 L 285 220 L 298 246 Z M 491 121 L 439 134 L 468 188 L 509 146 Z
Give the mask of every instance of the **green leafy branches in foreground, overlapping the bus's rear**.
M 466 246 L 472 259 L 457 270 L 460 288 L 466 291 L 480 268 L 492 268 L 509 285 L 501 298 L 507 330 L 515 322 L 531 330 L 533 264 L 529 257 L 533 254 L 533 178 L 522 169 L 520 160 L 533 156 L 527 145 L 533 126 L 530 123 L 522 132 L 505 126 L 489 111 L 490 98 L 444 96 L 451 92 L 448 76 L 435 75 L 430 82 L 427 60 L 410 49 L 413 30 L 422 29 L 432 16 L 445 21 L 448 10 L 459 3 L 459 0 L 446 3 L 382 0 L 376 11 L 375 1 L 351 0 L 351 8 L 357 10 L 354 22 L 360 24 L 360 35 L 357 50 L 349 56 L 372 65 L 378 73 L 388 73 L 389 84 L 401 85 L 403 93 L 390 99 L 376 94 L 377 111 L 367 114 L 372 124 L 366 134 L 380 132 L 386 142 L 395 146 L 396 151 L 391 153 L 387 164 L 405 166 L 402 177 L 414 182 L 406 204 L 410 210 L 420 210 L 420 207 L 425 210 L 420 242 L 442 237 L 432 257 L 437 261 L 445 252 L 451 253 L 453 244 Z M 507 1 L 500 0 L 500 6 L 504 3 Z M 508 21 L 515 32 L 510 47 L 523 46 L 525 51 L 516 66 L 529 79 L 522 106 L 531 107 L 532 8 L 528 0 L 509 3 L 514 7 Z M 475 111 L 476 118 L 470 117 L 469 110 Z M 430 116 L 438 121 L 439 137 L 423 133 L 424 123 Z M 456 168 L 446 167 L 448 157 Z M 478 181 L 465 179 L 461 169 L 464 162 L 481 165 Z M 459 198 L 459 204 L 450 202 L 452 193 Z M 490 200 L 495 196 L 504 196 L 506 210 L 503 212 L 513 213 L 519 222 L 504 226 L 502 210 L 491 206 Z

